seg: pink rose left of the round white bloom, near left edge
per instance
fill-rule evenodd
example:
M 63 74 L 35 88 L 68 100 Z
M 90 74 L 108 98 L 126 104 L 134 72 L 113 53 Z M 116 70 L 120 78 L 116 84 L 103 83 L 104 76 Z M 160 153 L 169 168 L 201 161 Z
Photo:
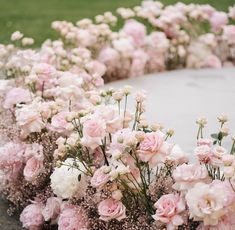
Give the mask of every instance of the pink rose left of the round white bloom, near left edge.
M 43 170 L 43 162 L 35 157 L 30 158 L 24 167 L 24 177 L 27 181 L 33 181 Z

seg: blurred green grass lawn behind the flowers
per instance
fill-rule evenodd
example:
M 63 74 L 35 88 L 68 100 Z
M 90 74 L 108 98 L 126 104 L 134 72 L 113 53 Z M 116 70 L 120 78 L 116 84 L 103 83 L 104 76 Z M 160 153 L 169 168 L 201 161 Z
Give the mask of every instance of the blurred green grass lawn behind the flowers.
M 177 0 L 162 0 L 173 4 Z M 235 0 L 182 0 L 185 3 L 209 3 L 217 9 L 227 10 Z M 9 41 L 15 30 L 22 31 L 36 41 L 36 46 L 46 38 L 55 38 L 50 28 L 54 20 L 76 22 L 85 17 L 94 17 L 118 7 L 138 5 L 140 0 L 0 0 L 0 43 Z

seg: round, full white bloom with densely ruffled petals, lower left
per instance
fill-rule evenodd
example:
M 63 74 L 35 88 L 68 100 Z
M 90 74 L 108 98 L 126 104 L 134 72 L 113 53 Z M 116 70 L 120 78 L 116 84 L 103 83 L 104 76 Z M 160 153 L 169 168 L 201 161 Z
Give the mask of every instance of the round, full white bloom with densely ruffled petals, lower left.
M 73 166 L 74 164 L 76 166 Z M 83 172 L 85 168 L 82 163 L 68 158 L 61 167 L 55 168 L 50 177 L 53 192 L 64 199 L 83 196 L 87 187 L 86 176 Z

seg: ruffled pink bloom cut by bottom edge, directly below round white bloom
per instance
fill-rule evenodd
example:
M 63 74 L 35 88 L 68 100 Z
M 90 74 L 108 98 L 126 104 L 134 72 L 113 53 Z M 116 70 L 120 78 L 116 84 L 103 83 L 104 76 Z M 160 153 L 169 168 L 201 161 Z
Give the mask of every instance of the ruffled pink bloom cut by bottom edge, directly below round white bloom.
M 68 206 L 62 210 L 58 220 L 58 230 L 87 230 L 86 212 L 76 206 Z

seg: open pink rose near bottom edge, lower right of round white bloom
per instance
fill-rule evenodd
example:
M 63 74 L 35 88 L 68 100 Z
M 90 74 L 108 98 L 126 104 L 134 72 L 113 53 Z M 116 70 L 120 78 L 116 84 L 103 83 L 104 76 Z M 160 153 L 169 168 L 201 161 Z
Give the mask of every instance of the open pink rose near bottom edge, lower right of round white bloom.
M 126 218 L 126 207 L 121 201 L 110 198 L 99 203 L 98 213 L 103 221 L 110 221 L 112 219 L 120 221 Z

